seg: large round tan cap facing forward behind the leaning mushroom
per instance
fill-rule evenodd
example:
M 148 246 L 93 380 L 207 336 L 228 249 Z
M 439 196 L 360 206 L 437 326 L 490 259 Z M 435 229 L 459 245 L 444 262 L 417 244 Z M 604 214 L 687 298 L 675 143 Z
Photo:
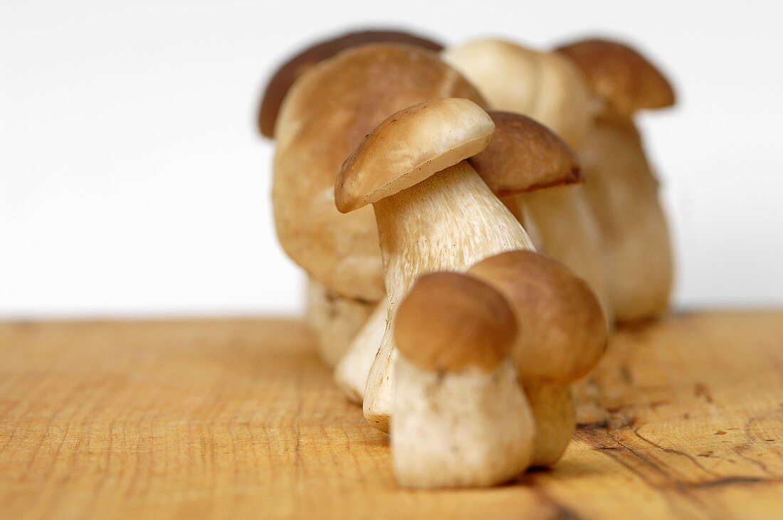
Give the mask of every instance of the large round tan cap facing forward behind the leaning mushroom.
M 319 63 L 286 96 L 272 184 L 277 236 L 291 259 L 330 291 L 370 301 L 384 295 L 372 208 L 343 215 L 334 206 L 342 163 L 390 114 L 442 95 L 484 102 L 435 52 L 370 44 Z

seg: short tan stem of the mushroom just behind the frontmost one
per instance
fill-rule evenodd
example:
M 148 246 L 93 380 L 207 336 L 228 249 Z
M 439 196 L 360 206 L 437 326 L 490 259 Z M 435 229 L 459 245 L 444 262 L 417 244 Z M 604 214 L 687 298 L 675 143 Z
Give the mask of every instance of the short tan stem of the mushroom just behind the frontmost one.
M 568 383 L 525 382 L 525 396 L 536 422 L 532 466 L 551 466 L 565 452 L 576 429 L 576 408 Z

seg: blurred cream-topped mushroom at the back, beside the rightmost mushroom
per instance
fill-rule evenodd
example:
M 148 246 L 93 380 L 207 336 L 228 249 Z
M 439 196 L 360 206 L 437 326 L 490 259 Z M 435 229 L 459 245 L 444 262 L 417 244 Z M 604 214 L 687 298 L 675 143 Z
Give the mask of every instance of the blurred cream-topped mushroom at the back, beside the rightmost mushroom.
M 485 39 L 449 48 L 444 58 L 476 85 L 493 109 L 532 117 L 572 149 L 578 151 L 583 145 L 590 126 L 589 91 L 576 66 L 557 52 Z M 511 115 L 495 119 L 498 127 L 514 124 Z M 590 183 L 589 178 L 586 181 Z M 584 278 L 612 321 L 601 233 L 583 189 L 554 186 L 503 201 L 520 206 L 536 249 Z

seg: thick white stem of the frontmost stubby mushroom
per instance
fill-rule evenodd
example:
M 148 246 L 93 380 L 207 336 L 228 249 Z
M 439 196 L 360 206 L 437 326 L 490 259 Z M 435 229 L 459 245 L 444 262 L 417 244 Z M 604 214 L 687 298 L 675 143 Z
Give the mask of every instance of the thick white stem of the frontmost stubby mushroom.
M 490 372 L 438 372 L 400 357 L 395 387 L 391 446 L 402 486 L 493 486 L 528 467 L 535 425 L 509 360 Z

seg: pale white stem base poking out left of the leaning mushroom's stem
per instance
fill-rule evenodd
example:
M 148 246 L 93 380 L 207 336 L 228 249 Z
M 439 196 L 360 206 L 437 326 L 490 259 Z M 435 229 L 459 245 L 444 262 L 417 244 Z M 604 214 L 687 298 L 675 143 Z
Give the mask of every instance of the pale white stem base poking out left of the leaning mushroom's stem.
M 373 366 L 375 354 L 386 331 L 387 314 L 388 305 L 384 298 L 356 333 L 348 346 L 348 352 L 334 368 L 334 381 L 352 403 L 362 404 L 364 400 L 367 375 L 370 374 L 370 367 Z

